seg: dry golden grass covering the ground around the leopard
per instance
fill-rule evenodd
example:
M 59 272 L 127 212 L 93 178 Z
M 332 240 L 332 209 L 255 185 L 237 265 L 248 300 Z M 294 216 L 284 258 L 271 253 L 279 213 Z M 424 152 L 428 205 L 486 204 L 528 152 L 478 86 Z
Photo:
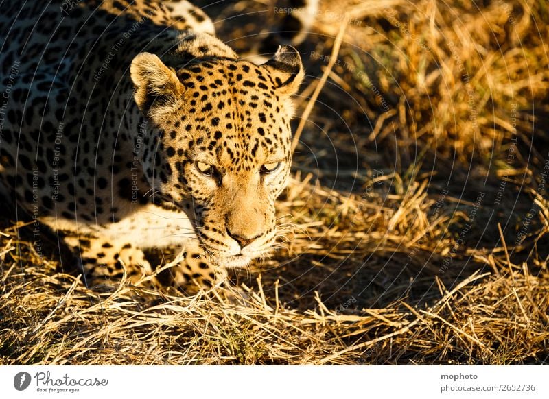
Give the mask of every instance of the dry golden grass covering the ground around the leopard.
M 549 3 L 347 3 L 303 47 L 300 114 L 349 11 L 245 298 L 89 291 L 6 213 L 1 364 L 549 363 Z

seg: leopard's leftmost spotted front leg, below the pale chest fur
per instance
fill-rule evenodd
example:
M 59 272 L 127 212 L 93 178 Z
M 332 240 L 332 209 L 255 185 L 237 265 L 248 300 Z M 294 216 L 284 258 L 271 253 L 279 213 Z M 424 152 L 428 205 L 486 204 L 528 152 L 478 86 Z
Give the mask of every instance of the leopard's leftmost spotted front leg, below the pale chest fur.
M 84 280 L 89 287 L 100 284 L 117 284 L 124 276 L 135 284 L 143 274 L 152 274 L 152 267 L 139 248 L 121 240 L 113 241 L 105 237 L 87 236 L 65 237 L 71 247 Z

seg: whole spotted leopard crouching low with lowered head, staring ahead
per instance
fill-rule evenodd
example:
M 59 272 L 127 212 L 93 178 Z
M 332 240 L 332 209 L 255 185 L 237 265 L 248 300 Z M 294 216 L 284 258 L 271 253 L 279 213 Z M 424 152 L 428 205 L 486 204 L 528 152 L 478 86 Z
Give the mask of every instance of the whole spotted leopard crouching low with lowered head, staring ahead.
M 89 287 L 200 287 L 270 256 L 292 163 L 300 53 L 240 58 L 187 1 L 2 6 L 0 188 Z M 172 265 L 174 264 L 174 265 Z

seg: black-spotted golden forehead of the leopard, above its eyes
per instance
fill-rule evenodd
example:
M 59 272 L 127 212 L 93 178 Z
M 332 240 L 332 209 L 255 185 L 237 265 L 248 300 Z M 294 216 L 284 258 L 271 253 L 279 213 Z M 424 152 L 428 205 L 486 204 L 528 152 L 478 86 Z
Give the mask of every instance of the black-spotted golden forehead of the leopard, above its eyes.
M 246 61 L 200 62 L 177 71 L 183 95 L 164 114 L 167 155 L 251 170 L 290 159 L 291 99 L 268 70 Z

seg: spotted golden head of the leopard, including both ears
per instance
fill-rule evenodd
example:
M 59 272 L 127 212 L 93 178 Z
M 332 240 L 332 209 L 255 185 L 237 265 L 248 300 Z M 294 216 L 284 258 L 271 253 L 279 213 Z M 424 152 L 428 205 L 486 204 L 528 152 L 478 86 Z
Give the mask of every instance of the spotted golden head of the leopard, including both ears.
M 299 53 L 284 46 L 259 66 L 212 58 L 181 68 L 141 53 L 131 77 L 150 125 L 141 162 L 154 193 L 194 221 L 216 264 L 242 267 L 264 256 L 290 173 Z

